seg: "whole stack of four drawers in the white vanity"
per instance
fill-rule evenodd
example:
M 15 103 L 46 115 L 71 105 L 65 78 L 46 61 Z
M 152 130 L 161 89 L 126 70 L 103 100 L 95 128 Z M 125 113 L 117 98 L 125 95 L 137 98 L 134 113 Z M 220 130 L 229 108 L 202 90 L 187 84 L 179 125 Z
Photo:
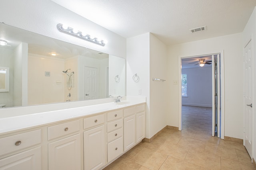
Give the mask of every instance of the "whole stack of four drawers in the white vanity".
M 123 148 L 123 109 L 107 113 L 107 160 L 124 152 Z

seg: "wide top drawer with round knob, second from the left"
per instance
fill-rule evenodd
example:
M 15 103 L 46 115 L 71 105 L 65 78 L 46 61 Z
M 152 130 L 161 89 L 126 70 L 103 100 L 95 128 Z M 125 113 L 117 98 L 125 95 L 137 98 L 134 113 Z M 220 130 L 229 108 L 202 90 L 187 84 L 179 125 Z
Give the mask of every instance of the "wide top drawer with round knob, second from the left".
M 62 137 L 79 131 L 80 122 L 79 120 L 70 121 L 67 123 L 61 123 L 58 125 L 48 127 L 48 141 L 55 139 L 57 137 Z

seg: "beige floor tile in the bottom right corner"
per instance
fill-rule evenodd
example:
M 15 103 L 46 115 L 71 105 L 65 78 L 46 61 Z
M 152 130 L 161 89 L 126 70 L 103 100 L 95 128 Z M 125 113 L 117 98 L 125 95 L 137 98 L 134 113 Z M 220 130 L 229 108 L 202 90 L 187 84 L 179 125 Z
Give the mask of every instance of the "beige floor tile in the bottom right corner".
M 221 169 L 222 170 L 255 170 L 252 163 L 246 164 L 243 162 L 238 162 L 230 160 L 227 158 L 221 158 Z

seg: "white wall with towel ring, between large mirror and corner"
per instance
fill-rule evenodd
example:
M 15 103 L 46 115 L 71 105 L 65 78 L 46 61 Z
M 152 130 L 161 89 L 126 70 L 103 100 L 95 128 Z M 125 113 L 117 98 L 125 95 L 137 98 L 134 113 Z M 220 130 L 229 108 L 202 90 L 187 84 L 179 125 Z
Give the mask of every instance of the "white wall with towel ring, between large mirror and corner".
M 126 41 L 126 95 L 146 97 L 146 138 L 150 138 L 150 33 Z M 142 43 L 143 42 L 143 43 Z M 132 80 L 137 74 L 138 82 Z M 138 91 L 141 90 L 141 94 Z

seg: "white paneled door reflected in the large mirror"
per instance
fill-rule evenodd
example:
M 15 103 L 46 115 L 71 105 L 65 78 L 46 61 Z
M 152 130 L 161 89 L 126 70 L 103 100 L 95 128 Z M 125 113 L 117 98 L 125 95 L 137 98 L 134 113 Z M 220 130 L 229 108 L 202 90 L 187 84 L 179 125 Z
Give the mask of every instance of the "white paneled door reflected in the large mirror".
M 99 98 L 98 68 L 84 66 L 84 100 Z

